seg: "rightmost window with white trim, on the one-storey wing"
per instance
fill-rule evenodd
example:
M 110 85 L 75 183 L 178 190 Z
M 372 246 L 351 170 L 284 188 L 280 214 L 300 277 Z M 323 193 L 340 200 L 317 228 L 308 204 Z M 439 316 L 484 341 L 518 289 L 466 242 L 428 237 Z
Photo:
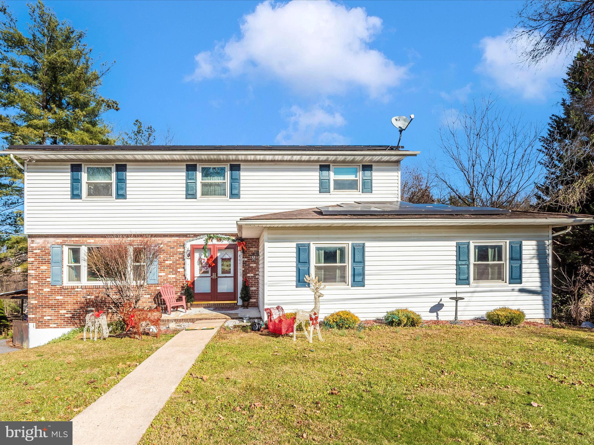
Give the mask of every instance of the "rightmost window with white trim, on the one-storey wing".
M 505 243 L 472 243 L 472 282 L 505 282 Z

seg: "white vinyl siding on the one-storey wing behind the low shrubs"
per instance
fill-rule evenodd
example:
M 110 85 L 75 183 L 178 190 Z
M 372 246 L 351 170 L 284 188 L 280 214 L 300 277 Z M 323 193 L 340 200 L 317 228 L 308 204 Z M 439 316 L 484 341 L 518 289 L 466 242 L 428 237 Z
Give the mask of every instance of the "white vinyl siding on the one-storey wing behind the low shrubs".
M 408 308 L 424 319 L 451 320 L 454 301 L 461 319 L 484 317 L 501 306 L 529 319 L 549 317 L 548 226 L 268 228 L 266 307 L 309 310 L 309 288 L 295 287 L 296 243 L 365 243 L 365 287 L 327 286 L 321 316 L 350 310 L 361 319 Z M 522 284 L 456 285 L 456 241 L 522 241 Z M 311 265 L 312 266 L 312 265 Z M 507 267 L 507 263 L 506 266 Z

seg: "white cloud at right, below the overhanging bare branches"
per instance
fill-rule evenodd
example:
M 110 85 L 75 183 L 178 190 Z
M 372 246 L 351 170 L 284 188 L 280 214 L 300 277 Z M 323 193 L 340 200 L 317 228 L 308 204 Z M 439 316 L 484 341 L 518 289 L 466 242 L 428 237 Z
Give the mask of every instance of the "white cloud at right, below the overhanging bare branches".
M 523 62 L 522 53 L 530 46 L 530 39 L 525 36 L 510 43 L 515 32 L 508 30 L 500 36 L 482 39 L 482 61 L 476 71 L 492 78 L 502 90 L 525 99 L 544 100 L 560 83 L 574 52 L 553 54 L 536 66 L 528 65 Z

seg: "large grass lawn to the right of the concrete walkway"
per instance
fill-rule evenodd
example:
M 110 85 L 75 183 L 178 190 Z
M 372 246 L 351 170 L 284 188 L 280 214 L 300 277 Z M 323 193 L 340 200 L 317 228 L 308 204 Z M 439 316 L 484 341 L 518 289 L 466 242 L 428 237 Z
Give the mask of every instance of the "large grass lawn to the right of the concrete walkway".
M 221 331 L 143 444 L 591 444 L 594 335 L 431 326 Z M 533 406 L 536 405 L 536 406 Z

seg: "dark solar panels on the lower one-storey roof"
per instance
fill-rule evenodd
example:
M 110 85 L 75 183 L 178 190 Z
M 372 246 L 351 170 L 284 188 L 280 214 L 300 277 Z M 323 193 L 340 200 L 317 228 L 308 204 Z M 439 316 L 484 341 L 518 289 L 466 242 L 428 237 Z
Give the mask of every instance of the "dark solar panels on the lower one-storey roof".
M 510 210 L 447 204 L 412 204 L 405 201 L 355 201 L 318 207 L 323 215 L 501 215 Z

